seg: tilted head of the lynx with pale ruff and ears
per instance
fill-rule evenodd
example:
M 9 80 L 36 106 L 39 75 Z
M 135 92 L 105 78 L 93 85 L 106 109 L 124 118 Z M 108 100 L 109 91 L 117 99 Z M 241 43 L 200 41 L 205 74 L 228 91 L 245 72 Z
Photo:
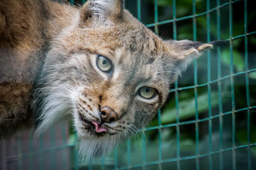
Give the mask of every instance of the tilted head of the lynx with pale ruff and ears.
M 119 0 L 88 1 L 75 15 L 52 41 L 34 108 L 38 132 L 72 115 L 81 153 L 94 157 L 145 127 L 170 83 L 212 45 L 163 41 Z

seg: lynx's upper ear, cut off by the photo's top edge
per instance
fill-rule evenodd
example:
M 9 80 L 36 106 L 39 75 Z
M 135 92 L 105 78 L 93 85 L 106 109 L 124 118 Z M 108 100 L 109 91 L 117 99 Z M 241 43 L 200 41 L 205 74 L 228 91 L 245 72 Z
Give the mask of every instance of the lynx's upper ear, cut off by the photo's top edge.
M 80 24 L 111 24 L 120 22 L 124 15 L 122 0 L 89 0 L 80 11 Z

